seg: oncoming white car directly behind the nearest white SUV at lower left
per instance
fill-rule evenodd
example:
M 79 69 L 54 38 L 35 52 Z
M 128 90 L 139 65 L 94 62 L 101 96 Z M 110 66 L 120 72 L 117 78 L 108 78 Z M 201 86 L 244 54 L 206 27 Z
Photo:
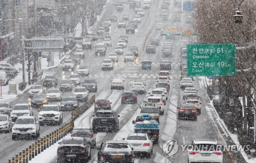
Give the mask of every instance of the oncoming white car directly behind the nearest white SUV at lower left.
M 11 118 L 12 122 L 15 122 L 19 116 L 22 115 L 33 115 L 33 110 L 27 103 L 17 103 L 12 108 Z

